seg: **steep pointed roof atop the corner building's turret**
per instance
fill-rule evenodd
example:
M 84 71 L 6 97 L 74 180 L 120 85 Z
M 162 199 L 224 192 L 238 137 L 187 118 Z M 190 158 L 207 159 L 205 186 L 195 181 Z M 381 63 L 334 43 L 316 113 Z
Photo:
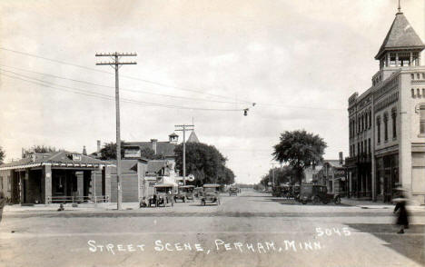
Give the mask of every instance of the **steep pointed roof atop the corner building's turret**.
M 375 59 L 380 59 L 381 55 L 388 50 L 400 50 L 405 48 L 417 48 L 422 50 L 425 45 L 420 40 L 420 36 L 410 26 L 407 18 L 401 13 L 397 13 L 390 31 L 385 37 L 380 51 L 376 54 Z

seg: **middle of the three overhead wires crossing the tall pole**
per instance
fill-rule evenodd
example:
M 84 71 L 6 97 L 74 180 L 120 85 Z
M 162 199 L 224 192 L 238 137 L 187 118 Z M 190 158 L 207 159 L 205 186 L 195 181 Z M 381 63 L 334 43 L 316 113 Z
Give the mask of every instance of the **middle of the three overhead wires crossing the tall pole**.
M 57 79 L 72 81 L 72 82 L 76 82 L 76 83 L 89 84 L 89 85 L 100 86 L 100 87 L 104 87 L 104 88 L 114 88 L 114 86 L 109 86 L 109 85 L 104 85 L 104 84 L 95 84 L 95 83 L 92 83 L 92 82 L 76 80 L 76 79 L 67 78 L 67 77 L 64 77 L 64 76 L 35 72 L 35 71 L 32 71 L 32 70 L 27 70 L 27 69 L 9 66 L 9 65 L 5 65 L 5 64 L 0 64 L 0 66 L 15 69 L 15 70 L 20 70 L 20 71 L 24 71 L 24 72 L 28 72 L 28 73 L 33 73 L 33 74 L 51 76 L 51 77 L 54 77 L 54 78 L 57 78 Z M 7 70 L 4 70 L 4 71 L 9 72 L 9 73 L 13 73 L 13 74 L 17 74 L 17 73 L 14 73 L 12 71 L 7 71 Z M 222 100 L 203 99 L 203 98 L 179 96 L 179 95 L 172 95 L 172 94 L 158 94 L 158 93 L 152 93 L 152 92 L 141 91 L 141 90 L 133 90 L 133 89 L 127 89 L 127 88 L 121 88 L 121 90 L 133 92 L 133 93 L 138 93 L 138 94 L 153 94 L 153 95 L 158 95 L 158 96 L 179 98 L 179 99 L 185 99 L 185 100 L 205 101 L 205 102 L 214 102 L 214 103 L 223 103 L 223 104 L 242 104 L 242 102 L 230 102 L 230 101 L 222 101 Z

